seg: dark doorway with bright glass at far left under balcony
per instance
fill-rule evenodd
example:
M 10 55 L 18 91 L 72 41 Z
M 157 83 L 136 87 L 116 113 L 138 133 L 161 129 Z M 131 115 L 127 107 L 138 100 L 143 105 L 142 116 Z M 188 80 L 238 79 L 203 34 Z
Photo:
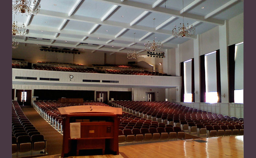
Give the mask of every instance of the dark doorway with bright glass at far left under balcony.
M 31 106 L 32 90 L 16 90 L 17 101 L 20 106 Z

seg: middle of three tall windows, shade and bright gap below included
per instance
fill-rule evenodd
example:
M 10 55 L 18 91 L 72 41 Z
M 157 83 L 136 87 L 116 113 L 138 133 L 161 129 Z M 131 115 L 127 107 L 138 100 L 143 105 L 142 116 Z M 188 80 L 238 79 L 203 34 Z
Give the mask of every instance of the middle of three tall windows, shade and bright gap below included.
M 216 51 L 204 55 L 205 67 L 205 102 L 217 103 L 219 100 L 217 92 L 217 67 Z

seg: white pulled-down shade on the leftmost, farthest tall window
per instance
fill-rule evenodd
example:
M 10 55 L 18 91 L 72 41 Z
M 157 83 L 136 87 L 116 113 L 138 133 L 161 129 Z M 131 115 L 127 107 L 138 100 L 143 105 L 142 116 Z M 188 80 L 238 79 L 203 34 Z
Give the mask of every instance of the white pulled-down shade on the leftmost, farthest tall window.
M 185 93 L 192 93 L 192 61 L 184 63 L 184 90 Z

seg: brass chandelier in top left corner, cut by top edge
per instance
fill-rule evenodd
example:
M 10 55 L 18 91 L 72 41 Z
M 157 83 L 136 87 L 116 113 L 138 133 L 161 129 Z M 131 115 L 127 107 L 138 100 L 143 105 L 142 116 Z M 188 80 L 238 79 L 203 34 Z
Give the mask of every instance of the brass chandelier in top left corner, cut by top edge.
M 40 4 L 36 0 L 12 0 L 12 12 L 25 13 L 26 16 L 36 15 L 40 11 Z

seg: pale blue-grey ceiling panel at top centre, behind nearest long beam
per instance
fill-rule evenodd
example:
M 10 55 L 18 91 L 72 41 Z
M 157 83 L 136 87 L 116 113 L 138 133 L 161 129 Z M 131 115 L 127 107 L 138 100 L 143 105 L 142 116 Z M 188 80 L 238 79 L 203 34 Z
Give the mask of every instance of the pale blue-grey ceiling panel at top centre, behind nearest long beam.
M 118 22 L 123 22 L 123 23 L 130 23 L 135 18 L 140 16 L 140 14 L 142 14 L 143 12 L 144 12 L 144 10 L 142 10 L 142 9 L 121 6 L 107 20 L 118 21 Z

